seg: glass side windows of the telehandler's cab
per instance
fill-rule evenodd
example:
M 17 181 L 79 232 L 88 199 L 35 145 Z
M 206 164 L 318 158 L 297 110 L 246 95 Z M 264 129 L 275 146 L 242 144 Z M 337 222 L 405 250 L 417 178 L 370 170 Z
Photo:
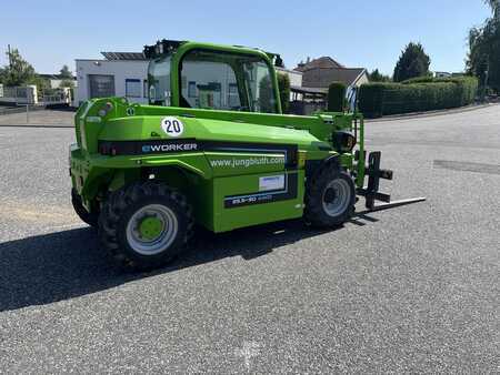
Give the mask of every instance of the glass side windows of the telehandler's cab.
M 260 57 L 192 50 L 179 70 L 180 107 L 278 113 L 270 67 Z M 153 61 L 148 77 L 150 102 L 170 105 L 170 58 Z

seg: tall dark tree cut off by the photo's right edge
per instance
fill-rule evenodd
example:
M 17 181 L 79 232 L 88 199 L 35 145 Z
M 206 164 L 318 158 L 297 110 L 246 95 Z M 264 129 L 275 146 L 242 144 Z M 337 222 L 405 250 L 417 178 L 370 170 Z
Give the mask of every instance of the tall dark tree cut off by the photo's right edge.
M 487 0 L 492 17 L 469 31 L 467 70 L 478 77 L 482 92 L 500 92 L 500 0 Z

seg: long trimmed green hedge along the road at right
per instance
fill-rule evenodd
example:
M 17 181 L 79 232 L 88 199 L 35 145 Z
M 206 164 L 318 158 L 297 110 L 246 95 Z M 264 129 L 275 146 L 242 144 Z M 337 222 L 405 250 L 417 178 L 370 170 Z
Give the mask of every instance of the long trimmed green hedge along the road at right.
M 368 118 L 424 112 L 473 103 L 478 80 L 417 78 L 403 83 L 367 83 L 359 92 L 359 109 Z

